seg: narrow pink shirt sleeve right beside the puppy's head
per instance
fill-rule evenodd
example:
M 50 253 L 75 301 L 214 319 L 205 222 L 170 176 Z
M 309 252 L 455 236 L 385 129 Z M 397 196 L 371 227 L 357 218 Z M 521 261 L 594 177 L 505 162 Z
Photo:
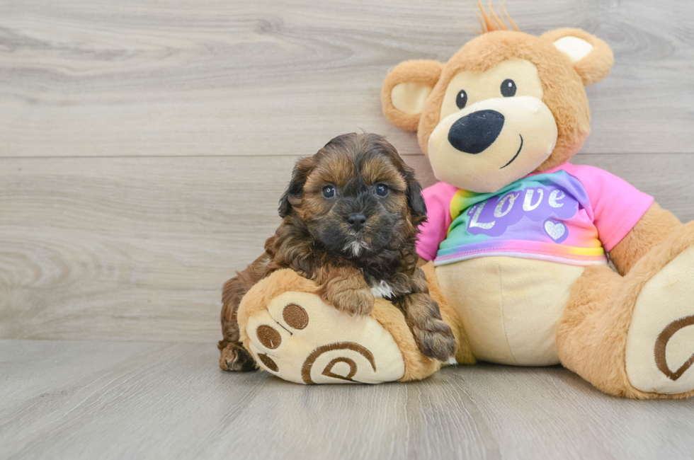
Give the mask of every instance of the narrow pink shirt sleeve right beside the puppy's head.
M 417 253 L 421 258 L 434 260 L 438 245 L 448 234 L 450 227 L 450 200 L 457 188 L 447 183 L 439 182 L 422 190 L 426 203 L 426 222 L 419 229 Z

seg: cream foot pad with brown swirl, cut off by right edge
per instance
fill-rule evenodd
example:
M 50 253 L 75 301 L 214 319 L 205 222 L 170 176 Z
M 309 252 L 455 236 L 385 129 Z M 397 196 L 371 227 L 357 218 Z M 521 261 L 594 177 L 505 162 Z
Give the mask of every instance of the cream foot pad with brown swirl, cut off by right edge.
M 694 390 L 694 248 L 651 278 L 636 301 L 627 335 L 626 369 L 636 389 Z

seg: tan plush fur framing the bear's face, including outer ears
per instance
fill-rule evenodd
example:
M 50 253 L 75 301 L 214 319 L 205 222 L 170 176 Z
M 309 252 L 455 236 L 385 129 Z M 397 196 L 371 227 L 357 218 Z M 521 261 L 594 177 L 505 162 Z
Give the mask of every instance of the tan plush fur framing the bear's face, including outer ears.
M 551 40 L 567 35 L 583 38 L 593 45 L 591 53 L 576 64 L 571 64 Z M 440 71 L 440 78 L 424 104 L 417 128 L 419 146 L 424 154 L 428 154 L 429 136 L 440 121 L 443 96 L 451 79 L 460 71 L 487 71 L 508 59 L 525 59 L 535 64 L 542 81 L 542 101 L 550 108 L 557 122 L 557 144 L 552 155 L 536 171 L 546 171 L 566 163 L 581 149 L 590 133 L 591 117 L 584 84 L 595 83 L 604 78 L 613 62 L 610 47 L 583 30 L 559 29 L 541 37 L 511 30 L 484 33 L 453 54 L 443 66 L 443 71 L 440 71 L 438 62 L 402 62 L 386 77 L 383 84 L 384 113 L 394 125 L 411 130 L 414 124 L 412 117 L 415 115 L 406 115 L 393 108 L 390 91 L 401 83 L 423 83 L 421 75 L 433 76 Z

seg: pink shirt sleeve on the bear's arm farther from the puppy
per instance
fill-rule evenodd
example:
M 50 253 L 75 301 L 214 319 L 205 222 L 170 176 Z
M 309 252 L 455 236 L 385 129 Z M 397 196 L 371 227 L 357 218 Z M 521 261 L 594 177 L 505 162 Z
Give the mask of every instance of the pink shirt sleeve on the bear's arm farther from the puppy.
M 580 180 L 588 192 L 598 238 L 609 253 L 639 222 L 651 206 L 653 197 L 602 169 L 567 166 L 567 173 Z

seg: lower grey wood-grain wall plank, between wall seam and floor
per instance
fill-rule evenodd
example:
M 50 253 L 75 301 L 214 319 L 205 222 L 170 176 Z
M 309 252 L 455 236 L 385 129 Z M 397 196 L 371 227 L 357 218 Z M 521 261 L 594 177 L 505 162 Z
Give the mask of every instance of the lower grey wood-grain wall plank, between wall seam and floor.
M 209 342 L 293 156 L 0 159 L 0 338 Z M 423 183 L 423 156 L 406 156 Z M 694 155 L 579 155 L 694 219 Z

